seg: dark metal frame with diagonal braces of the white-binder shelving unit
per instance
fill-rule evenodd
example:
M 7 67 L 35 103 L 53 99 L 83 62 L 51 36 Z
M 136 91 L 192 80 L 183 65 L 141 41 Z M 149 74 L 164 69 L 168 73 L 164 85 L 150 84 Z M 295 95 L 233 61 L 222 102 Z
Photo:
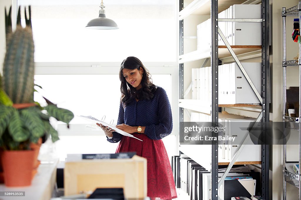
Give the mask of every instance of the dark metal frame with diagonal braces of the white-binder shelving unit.
M 222 40 L 225 43 L 225 47 L 230 52 L 232 58 L 234 61 L 238 64 L 241 71 L 244 73 L 244 76 L 248 80 L 250 86 L 253 88 L 254 93 L 258 97 L 262 112 L 259 114 L 258 118 L 256 119 L 256 122 L 262 121 L 262 130 L 265 131 L 268 127 L 268 124 L 266 122 L 269 121 L 269 102 L 270 102 L 270 96 L 269 96 L 269 0 L 261 0 L 262 2 L 262 19 L 218 19 L 218 8 L 220 5 L 223 6 L 222 9 L 225 10 L 225 8 L 228 8 L 232 4 L 240 4 L 244 1 L 241 0 L 194 0 L 192 1 L 185 9 L 184 9 L 184 0 L 179 0 L 179 98 L 180 103 L 181 99 L 184 98 L 184 63 L 189 61 L 194 61 L 202 58 L 211 58 L 211 66 L 212 66 L 212 107 L 209 109 L 211 110 L 210 114 L 212 116 L 212 122 L 218 122 L 218 111 L 219 111 L 219 104 L 218 104 L 218 65 L 219 65 L 219 47 L 218 46 L 218 34 L 222 38 Z M 221 4 L 219 4 L 219 1 L 221 1 Z M 212 45 L 210 51 L 204 51 L 204 52 L 191 52 L 189 54 L 184 55 L 184 18 L 186 16 L 189 16 L 190 14 L 205 14 L 207 11 L 204 11 L 205 5 L 208 6 L 208 4 L 211 2 L 211 24 L 212 24 Z M 201 10 L 201 11 L 198 11 Z M 208 10 L 208 9 L 207 9 Z M 237 58 L 237 55 L 235 54 L 232 47 L 229 45 L 229 43 L 226 41 L 225 36 L 222 34 L 221 30 L 218 27 L 218 21 L 223 22 L 261 22 L 262 23 L 262 94 L 259 94 L 256 90 L 255 86 L 253 85 L 252 81 L 250 80 L 250 77 L 244 70 L 244 67 L 240 63 L 239 59 Z M 222 48 L 225 48 L 224 46 Z M 258 46 L 256 46 L 259 48 Z M 233 48 L 240 49 L 242 47 L 233 46 Z M 258 54 L 258 49 L 256 49 Z M 249 51 L 248 51 L 249 52 Z M 291 64 L 291 63 L 290 63 Z M 301 70 L 300 70 L 301 71 Z M 232 105 L 236 106 L 236 105 Z M 258 106 L 258 105 L 257 105 Z M 189 106 L 188 106 L 189 107 Z M 206 109 L 204 108 L 204 105 L 200 105 L 200 109 Z M 184 108 L 185 106 L 179 107 L 179 121 L 184 121 Z M 187 108 L 187 107 L 186 107 Z M 208 109 L 206 109 L 208 111 Z M 257 123 L 255 125 L 257 125 Z M 181 130 L 180 130 L 181 131 Z M 216 133 L 215 133 L 216 134 Z M 215 135 L 213 135 L 215 136 Z M 269 199 L 269 146 L 265 143 L 265 134 L 262 136 L 262 182 L 261 182 L 261 195 L 264 199 Z M 244 141 L 244 143 L 241 145 L 242 148 L 240 148 L 237 152 L 237 154 L 234 156 L 234 158 L 229 162 L 228 168 L 226 172 L 224 173 L 223 177 L 220 181 L 218 181 L 218 144 L 217 141 L 212 142 L 212 148 L 211 148 L 211 173 L 212 173 L 212 182 L 211 182 L 211 200 L 218 200 L 218 188 L 222 184 L 222 182 L 225 179 L 225 176 L 230 171 L 231 167 L 234 165 L 237 157 L 239 156 L 240 152 L 243 149 L 243 146 L 247 142 L 247 137 Z M 189 156 L 189 155 L 188 155 Z M 201 163 L 199 163 L 201 164 Z M 248 164 L 248 163 L 245 163 Z

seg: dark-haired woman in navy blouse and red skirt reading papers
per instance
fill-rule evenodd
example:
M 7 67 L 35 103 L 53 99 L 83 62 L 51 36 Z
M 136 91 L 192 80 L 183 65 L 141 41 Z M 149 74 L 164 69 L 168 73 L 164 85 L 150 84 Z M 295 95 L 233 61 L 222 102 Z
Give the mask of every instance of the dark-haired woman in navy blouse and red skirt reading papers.
M 143 142 L 101 126 L 109 142 L 119 142 L 116 153 L 135 151 L 147 159 L 147 196 L 151 199 L 177 197 L 169 159 L 162 138 L 172 131 L 172 113 L 166 91 L 154 85 L 148 70 L 135 57 L 121 63 L 122 93 L 116 127 Z

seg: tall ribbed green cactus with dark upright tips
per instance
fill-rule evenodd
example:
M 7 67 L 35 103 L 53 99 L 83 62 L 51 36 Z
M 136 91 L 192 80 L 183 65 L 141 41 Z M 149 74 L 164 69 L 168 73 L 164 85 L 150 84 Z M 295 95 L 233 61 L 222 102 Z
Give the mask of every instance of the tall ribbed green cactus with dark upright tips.
M 31 103 L 34 92 L 34 45 L 31 26 L 26 23 L 26 27 L 22 28 L 18 23 L 16 31 L 6 32 L 2 88 L 14 103 Z

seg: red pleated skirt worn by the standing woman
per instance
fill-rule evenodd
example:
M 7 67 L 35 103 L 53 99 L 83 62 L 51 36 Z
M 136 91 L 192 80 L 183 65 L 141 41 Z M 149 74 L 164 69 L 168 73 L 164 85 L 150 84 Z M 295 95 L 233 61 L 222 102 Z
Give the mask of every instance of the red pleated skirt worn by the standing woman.
M 147 159 L 147 196 L 152 200 L 177 198 L 172 169 L 162 140 L 149 139 L 143 133 L 133 135 L 143 142 L 123 136 L 116 153 L 135 151 L 138 156 Z

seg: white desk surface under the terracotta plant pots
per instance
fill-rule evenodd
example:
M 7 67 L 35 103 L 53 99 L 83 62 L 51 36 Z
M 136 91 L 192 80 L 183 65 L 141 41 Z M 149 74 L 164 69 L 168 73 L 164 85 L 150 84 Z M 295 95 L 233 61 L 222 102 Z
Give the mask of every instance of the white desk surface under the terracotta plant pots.
M 56 169 L 59 159 L 54 159 L 49 164 L 40 164 L 38 172 L 28 187 L 5 187 L 0 184 L 0 191 L 25 192 L 25 196 L 0 196 L 0 200 L 49 200 L 56 183 Z

